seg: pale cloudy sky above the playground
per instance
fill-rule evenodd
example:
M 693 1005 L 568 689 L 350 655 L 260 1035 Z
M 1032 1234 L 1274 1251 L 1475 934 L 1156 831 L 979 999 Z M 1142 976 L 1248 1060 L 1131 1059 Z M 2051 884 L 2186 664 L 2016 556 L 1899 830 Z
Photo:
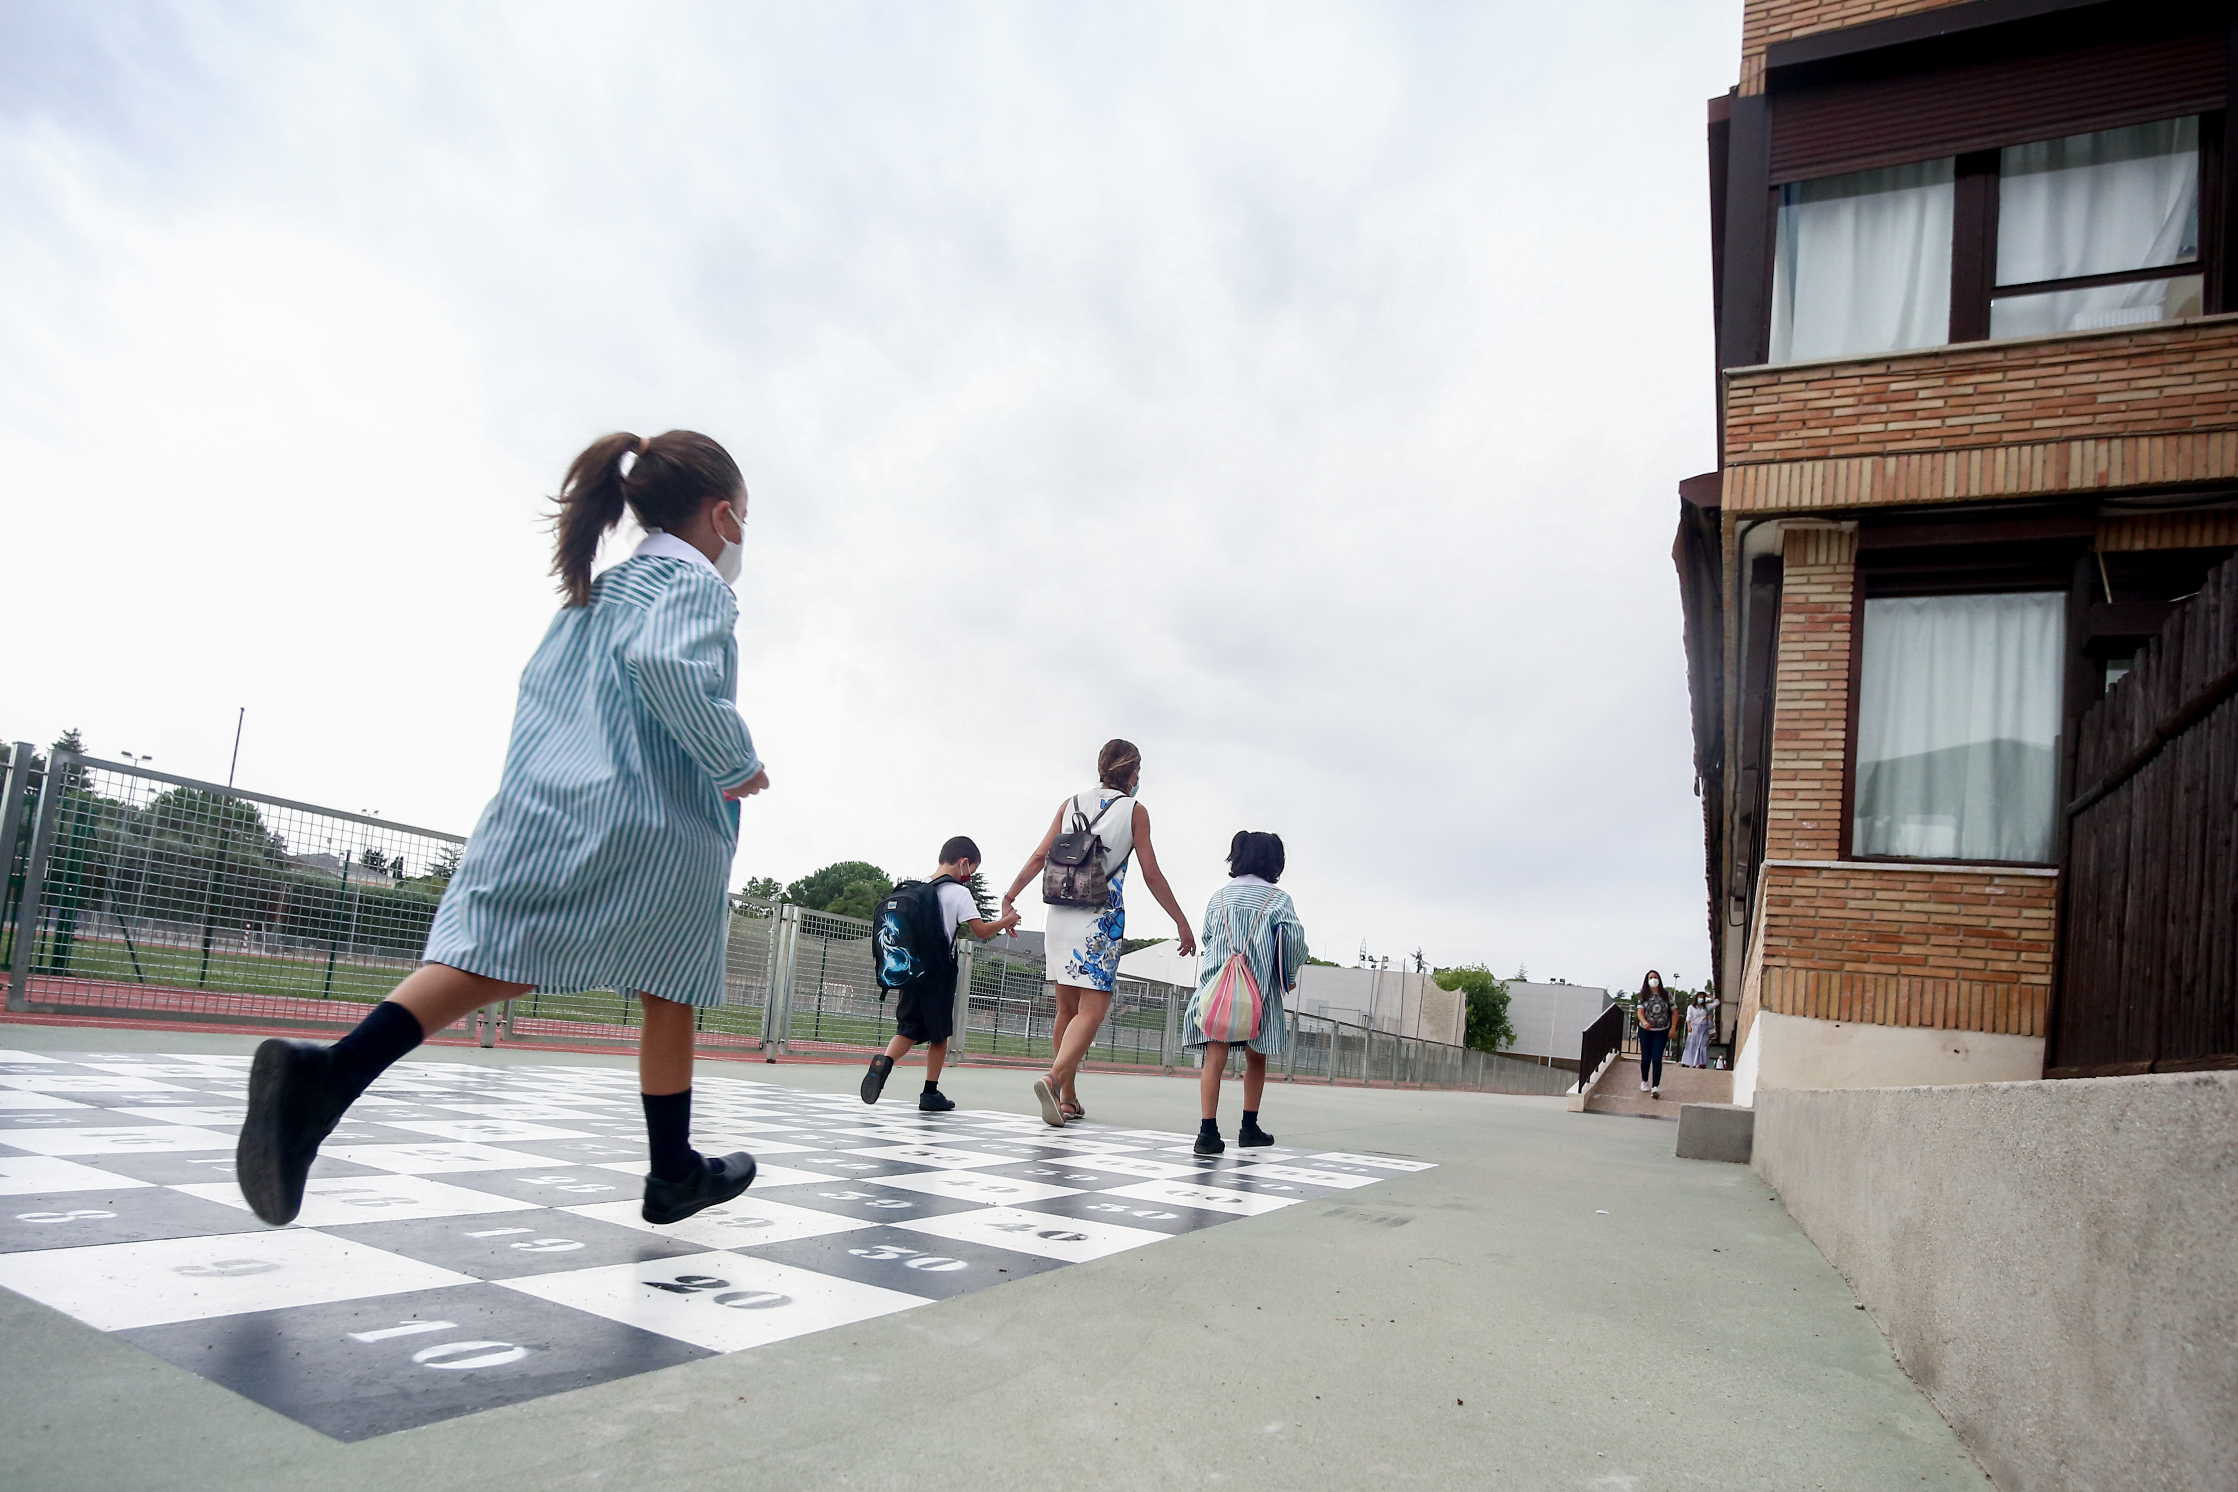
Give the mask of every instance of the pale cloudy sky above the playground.
M 1338 962 L 1699 975 L 1737 49 L 1734 0 L 9 0 L 0 731 L 224 778 L 246 705 L 242 785 L 466 830 L 560 474 L 694 427 L 752 488 L 741 881 L 1007 879 L 1128 736 L 1191 915 L 1267 828 Z

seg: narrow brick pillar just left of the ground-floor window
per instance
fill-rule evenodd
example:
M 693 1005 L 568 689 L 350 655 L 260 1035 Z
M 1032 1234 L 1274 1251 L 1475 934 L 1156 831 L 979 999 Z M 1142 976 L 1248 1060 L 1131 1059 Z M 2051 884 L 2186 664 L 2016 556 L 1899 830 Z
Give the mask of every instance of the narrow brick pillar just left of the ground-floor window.
M 1772 776 L 1764 814 L 1770 859 L 1833 859 L 1842 852 L 1855 561 L 1855 532 L 1795 528 L 1786 535 Z

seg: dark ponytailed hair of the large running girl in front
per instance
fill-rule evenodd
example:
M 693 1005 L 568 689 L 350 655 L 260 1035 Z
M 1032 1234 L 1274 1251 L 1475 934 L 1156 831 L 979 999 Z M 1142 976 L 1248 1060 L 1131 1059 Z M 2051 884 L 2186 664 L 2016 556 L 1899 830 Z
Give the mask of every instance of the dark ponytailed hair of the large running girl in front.
M 624 472 L 622 461 L 636 456 Z M 598 541 L 622 521 L 627 506 L 645 528 L 674 530 L 692 521 L 709 497 L 736 497 L 745 476 L 730 452 L 696 429 L 671 429 L 651 441 L 629 432 L 600 436 L 575 456 L 560 488 L 553 517 L 553 575 L 568 606 L 591 602 L 591 561 Z

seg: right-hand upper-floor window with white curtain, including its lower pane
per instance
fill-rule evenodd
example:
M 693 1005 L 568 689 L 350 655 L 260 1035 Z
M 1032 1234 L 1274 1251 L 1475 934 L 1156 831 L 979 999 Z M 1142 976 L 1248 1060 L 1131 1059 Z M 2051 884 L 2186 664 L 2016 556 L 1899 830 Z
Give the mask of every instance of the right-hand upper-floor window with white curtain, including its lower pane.
M 1990 336 L 2019 338 L 2200 313 L 2200 121 L 2010 145 L 1999 159 Z M 2115 284 L 2048 282 L 2124 275 Z M 2043 286 L 2005 293 L 2007 286 Z

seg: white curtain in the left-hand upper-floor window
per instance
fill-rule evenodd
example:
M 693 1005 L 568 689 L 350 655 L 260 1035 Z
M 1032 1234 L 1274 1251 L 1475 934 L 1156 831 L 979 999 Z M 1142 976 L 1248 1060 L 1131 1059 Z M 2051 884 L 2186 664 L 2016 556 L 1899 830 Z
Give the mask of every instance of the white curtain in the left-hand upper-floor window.
M 1949 157 L 1779 188 L 1772 362 L 1936 347 L 1949 320 Z

